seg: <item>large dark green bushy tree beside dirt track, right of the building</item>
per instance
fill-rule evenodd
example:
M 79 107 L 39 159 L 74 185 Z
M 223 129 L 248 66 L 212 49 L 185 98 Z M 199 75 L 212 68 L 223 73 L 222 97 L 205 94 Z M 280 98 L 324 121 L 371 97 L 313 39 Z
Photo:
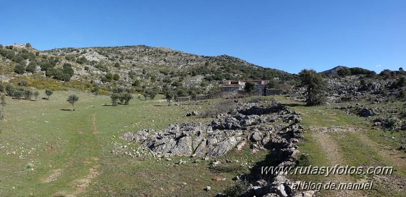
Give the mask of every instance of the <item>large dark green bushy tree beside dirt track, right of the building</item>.
M 307 105 L 320 105 L 326 100 L 327 82 L 314 69 L 303 69 L 299 73 L 301 84 L 307 87 Z

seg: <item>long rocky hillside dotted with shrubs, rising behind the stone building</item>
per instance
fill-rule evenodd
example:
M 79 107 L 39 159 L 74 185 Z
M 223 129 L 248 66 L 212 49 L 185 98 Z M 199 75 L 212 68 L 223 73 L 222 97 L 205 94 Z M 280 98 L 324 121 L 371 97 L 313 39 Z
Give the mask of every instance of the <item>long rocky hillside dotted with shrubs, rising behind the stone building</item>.
M 294 77 L 227 55 L 201 56 L 147 46 L 49 51 L 29 45 L 0 46 L 0 70 L 2 82 L 18 83 L 24 78 L 30 81 L 28 86 L 39 89 L 53 86 L 54 90 L 77 88 L 105 94 L 116 86 L 136 92 L 168 86 L 181 89 L 179 96 L 190 90 L 206 94 L 226 80 L 272 79 L 284 84 Z

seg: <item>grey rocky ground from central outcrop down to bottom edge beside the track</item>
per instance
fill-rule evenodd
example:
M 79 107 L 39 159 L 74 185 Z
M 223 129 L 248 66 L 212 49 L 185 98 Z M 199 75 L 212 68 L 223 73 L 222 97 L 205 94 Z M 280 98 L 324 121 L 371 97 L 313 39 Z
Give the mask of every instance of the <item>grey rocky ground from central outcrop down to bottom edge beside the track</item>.
M 300 154 L 295 145 L 302 138 L 302 128 L 298 125 L 301 122 L 300 116 L 300 113 L 289 110 L 274 99 L 257 99 L 239 103 L 236 109 L 218 114 L 208 125 L 169 125 L 161 131 L 124 133 L 120 138 L 141 144 L 139 149 L 124 154 L 139 157 L 143 156 L 143 151 L 149 151 L 148 155 L 167 159 L 171 156 L 193 156 L 196 160 L 207 160 L 249 143 L 253 152 L 268 150 L 275 154 L 276 166 L 290 167 L 295 165 Z M 211 167 L 215 168 L 218 164 L 220 161 L 214 161 Z M 253 167 L 258 168 L 259 166 Z M 293 188 L 294 182 L 283 175 L 273 176 L 275 177 L 269 183 L 256 173 L 237 176 L 236 179 L 252 181 L 246 191 L 248 196 L 313 196 L 315 193 L 297 192 Z

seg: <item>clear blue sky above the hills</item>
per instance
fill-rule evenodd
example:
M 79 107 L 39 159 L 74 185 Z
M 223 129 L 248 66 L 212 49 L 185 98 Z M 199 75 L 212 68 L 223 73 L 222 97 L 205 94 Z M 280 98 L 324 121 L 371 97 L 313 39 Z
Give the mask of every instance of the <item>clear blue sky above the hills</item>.
M 0 44 L 147 45 L 290 73 L 406 68 L 406 1 L 5 1 Z

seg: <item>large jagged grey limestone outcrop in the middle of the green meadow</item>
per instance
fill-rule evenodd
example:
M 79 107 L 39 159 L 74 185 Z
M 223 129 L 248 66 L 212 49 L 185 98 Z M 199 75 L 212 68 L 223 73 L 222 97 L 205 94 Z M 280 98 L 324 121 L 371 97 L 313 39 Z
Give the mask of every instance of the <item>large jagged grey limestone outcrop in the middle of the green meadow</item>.
M 267 100 L 271 103 L 267 105 L 261 102 L 240 103 L 237 109 L 218 114 L 209 125 L 169 125 L 162 131 L 128 132 L 120 138 L 142 142 L 151 151 L 170 156 L 222 156 L 246 140 L 254 143 L 253 149 L 294 147 L 297 140 L 292 139 L 301 137 L 300 114 L 274 99 Z M 281 124 L 270 124 L 278 120 Z

